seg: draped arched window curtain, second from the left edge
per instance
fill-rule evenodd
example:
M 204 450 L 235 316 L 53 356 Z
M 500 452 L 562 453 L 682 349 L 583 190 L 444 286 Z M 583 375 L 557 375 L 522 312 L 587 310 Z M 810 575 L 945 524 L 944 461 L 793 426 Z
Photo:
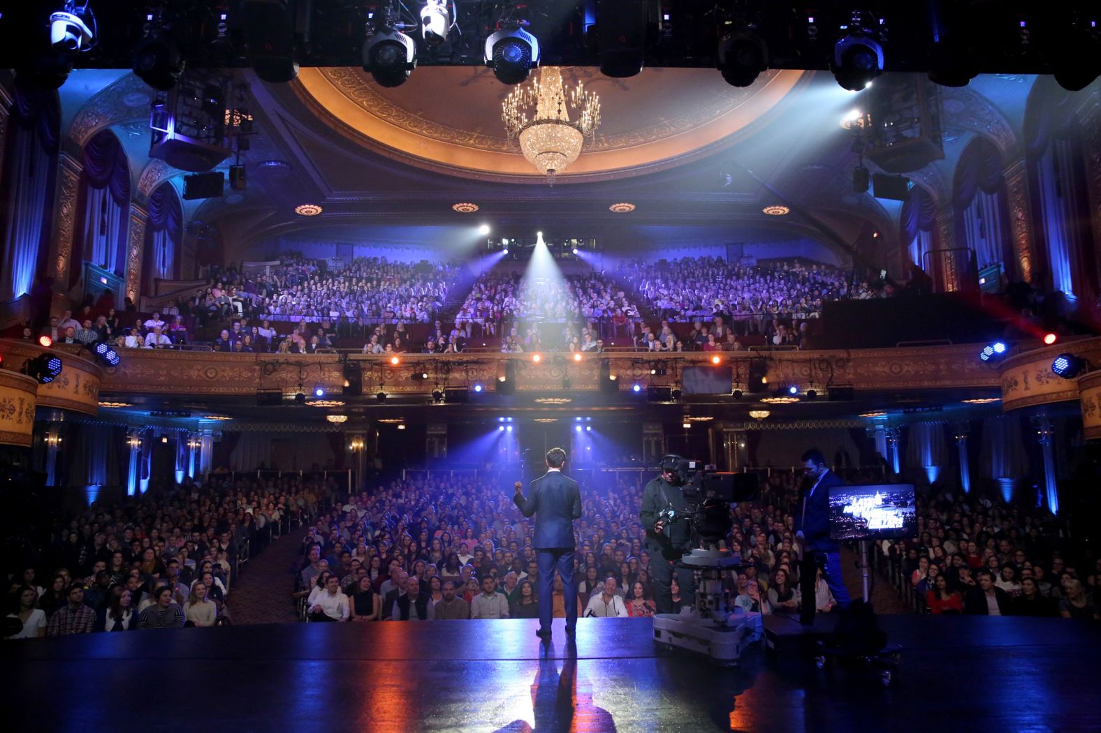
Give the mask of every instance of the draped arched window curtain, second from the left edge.
M 103 130 L 84 146 L 83 164 L 80 244 L 69 285 L 80 277 L 79 262 L 126 274 L 130 219 L 130 164 L 126 151 L 113 133 Z

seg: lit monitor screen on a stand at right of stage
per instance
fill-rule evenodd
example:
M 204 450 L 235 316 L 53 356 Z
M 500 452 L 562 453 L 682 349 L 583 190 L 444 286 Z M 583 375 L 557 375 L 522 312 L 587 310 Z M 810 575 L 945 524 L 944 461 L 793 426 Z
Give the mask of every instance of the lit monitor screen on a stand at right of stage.
M 917 536 L 914 484 L 832 486 L 829 526 L 833 539 L 904 539 Z

